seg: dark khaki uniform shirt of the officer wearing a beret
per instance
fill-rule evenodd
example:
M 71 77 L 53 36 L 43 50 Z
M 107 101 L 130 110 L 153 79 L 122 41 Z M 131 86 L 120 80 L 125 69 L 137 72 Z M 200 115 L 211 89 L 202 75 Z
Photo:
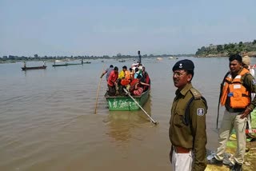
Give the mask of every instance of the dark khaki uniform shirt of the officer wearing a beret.
M 176 91 L 176 97 L 171 108 L 169 137 L 174 146 L 191 149 L 194 152 L 193 170 L 206 169 L 206 104 L 200 98 L 201 94 L 187 84 L 181 91 Z M 190 125 L 185 125 L 182 118 L 185 116 L 186 104 L 191 97 L 196 97 L 190 104 Z

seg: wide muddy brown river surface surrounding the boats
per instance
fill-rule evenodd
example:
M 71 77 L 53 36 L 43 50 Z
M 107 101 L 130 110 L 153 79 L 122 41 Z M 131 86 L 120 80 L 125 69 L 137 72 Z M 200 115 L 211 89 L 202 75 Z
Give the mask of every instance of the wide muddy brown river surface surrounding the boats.
M 195 65 L 192 84 L 209 105 L 207 149 L 215 149 L 219 85 L 229 69 L 228 58 L 189 59 Z M 159 122 L 157 126 L 142 110 L 110 112 L 106 107 L 102 70 L 113 64 L 120 71 L 133 60 L 98 59 L 61 67 L 47 62 L 46 70 L 28 71 L 21 70 L 22 62 L 1 64 L 0 170 L 170 170 L 168 129 L 176 89 L 171 69 L 178 60 L 142 59 L 152 83 L 143 108 Z M 256 60 L 251 58 L 251 63 Z

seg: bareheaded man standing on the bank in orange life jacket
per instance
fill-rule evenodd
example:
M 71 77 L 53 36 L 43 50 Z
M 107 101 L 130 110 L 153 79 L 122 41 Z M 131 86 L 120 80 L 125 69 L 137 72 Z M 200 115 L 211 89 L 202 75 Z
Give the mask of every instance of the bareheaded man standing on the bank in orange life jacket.
M 226 74 L 221 88 L 221 105 L 225 105 L 222 125 L 218 132 L 218 149 L 210 164 L 222 165 L 226 150 L 226 142 L 231 130 L 235 129 L 237 137 L 237 151 L 231 170 L 242 170 L 242 163 L 246 153 L 246 121 L 247 116 L 256 105 L 256 98 L 251 101 L 250 93 L 256 92 L 256 82 L 249 70 L 242 67 L 242 57 L 231 55 L 230 71 Z M 250 102 L 251 101 L 251 102 Z M 232 161 L 231 161 L 232 162 Z

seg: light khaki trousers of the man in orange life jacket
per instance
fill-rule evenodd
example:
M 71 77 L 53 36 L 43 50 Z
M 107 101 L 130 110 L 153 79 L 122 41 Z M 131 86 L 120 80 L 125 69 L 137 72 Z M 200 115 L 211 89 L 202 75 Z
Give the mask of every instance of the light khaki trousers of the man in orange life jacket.
M 222 125 L 218 132 L 218 149 L 215 154 L 215 158 L 219 161 L 223 160 L 226 150 L 226 141 L 229 140 L 230 133 L 234 128 L 237 137 L 237 151 L 234 154 L 234 161 L 238 164 L 243 163 L 243 159 L 246 153 L 246 121 L 247 118 L 240 118 L 239 113 L 230 113 L 225 110 L 222 119 Z

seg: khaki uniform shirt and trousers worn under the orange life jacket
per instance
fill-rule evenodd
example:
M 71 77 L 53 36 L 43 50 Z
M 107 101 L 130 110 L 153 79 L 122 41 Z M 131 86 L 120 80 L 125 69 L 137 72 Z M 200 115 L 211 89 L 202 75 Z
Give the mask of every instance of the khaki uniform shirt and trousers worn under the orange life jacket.
M 241 72 L 242 70 L 240 70 L 238 72 L 238 74 Z M 241 82 L 243 85 L 245 85 L 246 89 L 249 90 L 251 93 L 255 93 L 256 92 L 256 82 L 254 80 L 254 77 L 251 74 L 245 74 L 242 76 L 241 78 Z M 254 97 L 254 99 L 252 99 L 251 103 L 248 104 L 248 106 L 250 107 L 250 109 L 254 109 L 256 106 L 256 98 Z M 219 129 L 219 133 L 218 133 L 218 149 L 217 152 L 215 154 L 215 158 L 218 161 L 222 161 L 224 158 L 224 153 L 226 150 L 226 141 L 228 141 L 229 137 L 230 137 L 230 132 L 231 129 L 235 129 L 235 133 L 236 133 L 236 137 L 237 137 L 237 151 L 234 154 L 234 161 L 238 163 L 239 165 L 242 165 L 243 161 L 244 161 L 244 156 L 246 153 L 246 133 L 245 133 L 245 129 L 246 129 L 246 121 L 247 118 L 243 118 L 241 119 L 241 115 L 245 109 L 232 109 L 230 108 L 230 100 L 229 97 L 226 100 L 226 104 L 225 104 L 226 110 L 224 112 L 223 115 L 223 119 L 222 119 L 222 125 L 221 128 Z

